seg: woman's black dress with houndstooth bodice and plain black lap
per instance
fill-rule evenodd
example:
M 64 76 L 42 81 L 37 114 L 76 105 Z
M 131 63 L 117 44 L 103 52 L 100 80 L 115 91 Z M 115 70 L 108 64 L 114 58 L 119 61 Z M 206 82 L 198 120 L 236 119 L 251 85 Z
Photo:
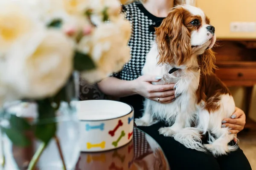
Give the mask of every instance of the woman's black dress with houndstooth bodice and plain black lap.
M 134 80 L 141 75 L 145 64 L 145 55 L 149 52 L 154 40 L 154 29 L 163 18 L 149 13 L 141 3 L 122 6 L 126 19 L 131 22 L 132 33 L 129 41 L 131 60 L 125 64 L 121 72 L 112 76 L 122 80 Z M 143 110 L 143 97 L 132 95 L 120 99 L 134 107 L 134 117 L 139 118 Z M 151 135 L 162 147 L 172 170 L 251 170 L 250 164 L 241 149 L 227 156 L 214 158 L 211 154 L 188 149 L 172 137 L 158 133 L 160 127 L 167 126 L 163 122 L 150 127 L 139 127 Z

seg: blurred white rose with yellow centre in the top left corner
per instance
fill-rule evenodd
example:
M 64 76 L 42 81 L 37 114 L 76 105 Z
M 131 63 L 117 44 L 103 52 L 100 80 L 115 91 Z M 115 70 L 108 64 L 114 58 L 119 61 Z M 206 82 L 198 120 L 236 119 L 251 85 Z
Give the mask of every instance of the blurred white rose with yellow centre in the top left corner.
M 20 1 L 0 0 L 0 57 L 16 40 L 42 26 Z

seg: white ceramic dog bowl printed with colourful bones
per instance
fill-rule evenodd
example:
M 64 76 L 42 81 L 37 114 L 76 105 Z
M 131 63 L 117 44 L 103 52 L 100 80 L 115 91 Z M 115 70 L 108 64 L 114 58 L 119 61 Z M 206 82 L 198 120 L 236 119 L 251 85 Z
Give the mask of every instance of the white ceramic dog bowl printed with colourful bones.
M 80 150 L 99 152 L 122 147 L 133 136 L 134 111 L 125 103 L 110 100 L 79 101 Z

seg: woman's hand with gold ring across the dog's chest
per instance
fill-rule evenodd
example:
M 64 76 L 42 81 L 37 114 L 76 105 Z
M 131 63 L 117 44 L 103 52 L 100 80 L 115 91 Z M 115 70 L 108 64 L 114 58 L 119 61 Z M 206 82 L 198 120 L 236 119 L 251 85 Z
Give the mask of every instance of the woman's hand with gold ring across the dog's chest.
M 142 75 L 136 80 L 134 80 L 134 92 L 136 94 L 142 95 L 145 98 L 157 102 L 159 98 L 160 103 L 164 104 L 174 101 L 176 99 L 174 90 L 175 84 L 151 84 L 151 82 L 157 82 L 161 79 L 161 76 Z

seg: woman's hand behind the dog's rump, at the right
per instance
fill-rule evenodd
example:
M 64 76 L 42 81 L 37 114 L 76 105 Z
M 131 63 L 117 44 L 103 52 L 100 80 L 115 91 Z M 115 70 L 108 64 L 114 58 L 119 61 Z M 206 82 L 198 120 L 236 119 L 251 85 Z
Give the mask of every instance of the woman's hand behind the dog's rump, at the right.
M 231 134 L 237 134 L 244 129 L 245 125 L 245 114 L 244 111 L 236 107 L 235 112 L 231 118 L 225 118 L 222 121 L 221 127 L 230 127 Z M 234 141 L 237 142 L 237 139 L 234 138 Z

